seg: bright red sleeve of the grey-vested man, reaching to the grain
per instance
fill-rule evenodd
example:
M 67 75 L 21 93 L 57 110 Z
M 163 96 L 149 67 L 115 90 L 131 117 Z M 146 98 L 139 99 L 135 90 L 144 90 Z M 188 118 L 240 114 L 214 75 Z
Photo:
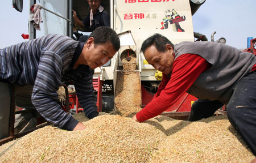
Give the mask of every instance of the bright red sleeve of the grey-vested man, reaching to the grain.
M 199 55 L 180 55 L 173 63 L 171 79 L 163 74 L 155 97 L 136 114 L 138 121 L 146 121 L 170 108 L 191 87 L 197 77 L 211 66 Z

